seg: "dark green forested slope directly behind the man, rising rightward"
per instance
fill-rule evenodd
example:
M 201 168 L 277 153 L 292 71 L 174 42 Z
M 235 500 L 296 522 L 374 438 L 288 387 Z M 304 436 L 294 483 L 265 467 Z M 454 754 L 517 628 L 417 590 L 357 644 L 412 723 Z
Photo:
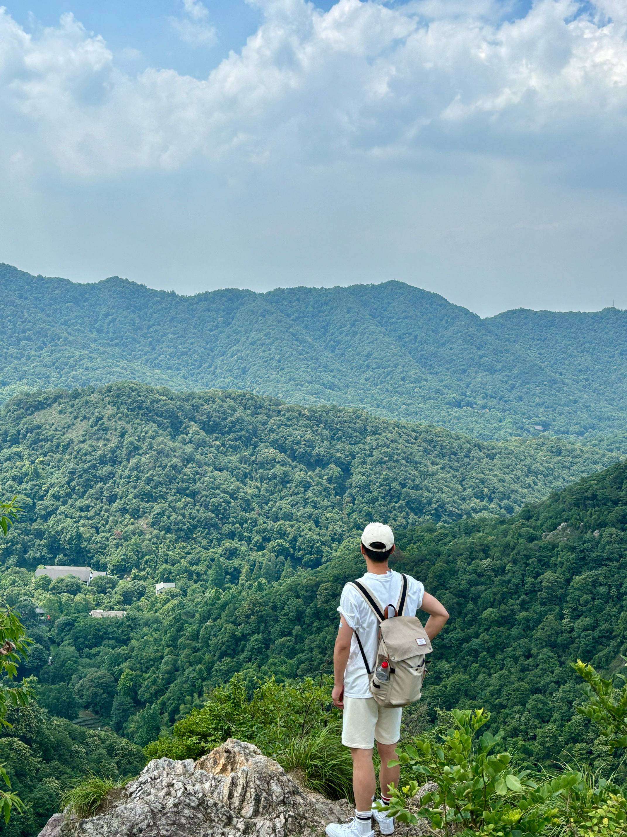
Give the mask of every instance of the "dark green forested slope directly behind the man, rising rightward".
M 400 537 L 398 566 L 451 612 L 427 680 L 431 711 L 490 706 L 496 726 L 534 761 L 563 751 L 583 762 L 599 757 L 588 721 L 573 717 L 582 691 L 568 664 L 577 657 L 604 670 L 619 664 L 627 644 L 626 527 L 627 465 L 620 464 L 507 520 L 430 523 Z M 260 579 L 193 604 L 189 597 L 155 602 L 149 611 L 159 629 L 131 644 L 125 661 L 140 672 L 142 699 L 174 717 L 177 700 L 236 672 L 330 671 L 339 591 L 363 571 L 357 543 L 278 583 Z M 156 647 L 149 649 L 149 636 Z M 169 686 L 153 662 L 164 657 Z

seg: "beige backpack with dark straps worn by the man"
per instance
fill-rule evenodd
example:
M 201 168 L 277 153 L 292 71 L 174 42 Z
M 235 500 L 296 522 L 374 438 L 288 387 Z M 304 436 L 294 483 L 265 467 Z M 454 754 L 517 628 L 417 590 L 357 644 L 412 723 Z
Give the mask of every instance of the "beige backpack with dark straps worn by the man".
M 419 700 L 425 679 L 425 655 L 430 654 L 431 639 L 417 616 L 403 616 L 407 598 L 407 577 L 403 579 L 399 601 L 381 608 L 375 597 L 359 581 L 350 582 L 364 597 L 379 622 L 379 648 L 375 665 L 370 669 L 359 634 L 354 632 L 370 680 L 370 693 L 379 706 L 408 706 Z M 381 666 L 384 662 L 387 666 Z M 388 673 L 385 679 L 385 672 Z M 381 674 L 384 673 L 382 676 Z

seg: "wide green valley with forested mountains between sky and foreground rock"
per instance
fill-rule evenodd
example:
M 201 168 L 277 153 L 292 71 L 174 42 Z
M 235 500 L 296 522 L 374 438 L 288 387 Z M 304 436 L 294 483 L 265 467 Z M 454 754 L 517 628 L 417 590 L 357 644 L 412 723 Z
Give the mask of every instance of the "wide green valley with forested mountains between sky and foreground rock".
M 603 373 L 594 367 L 599 318 L 481 321 L 399 283 L 262 301 L 40 281 L 56 301 L 28 311 L 33 334 L 48 317 L 46 346 L 3 335 L 0 475 L 22 511 L 0 540 L 0 601 L 33 640 L 18 670 L 33 700 L 0 733 L 27 806 L 0 834 L 35 837 L 86 769 L 136 774 L 149 757 L 196 758 L 227 737 L 304 769 L 294 742 L 307 730 L 303 741 L 338 765 L 308 781 L 349 793 L 331 654 L 339 593 L 363 570 L 359 531 L 373 518 L 395 528 L 395 567 L 451 613 L 402 740 L 486 706 L 522 763 L 584 763 L 623 780 L 619 754 L 575 711 L 584 691 L 570 665 L 613 672 L 627 647 L 624 420 L 610 366 L 622 369 L 622 349 L 617 338 L 610 357 L 599 344 Z M 110 306 L 111 293 L 114 313 L 101 316 L 94 301 Z M 383 331 L 361 339 L 375 328 L 368 306 L 395 319 L 388 342 Z M 605 328 L 622 312 L 601 315 Z M 560 328 L 563 345 L 548 336 Z M 574 356 L 576 386 L 566 372 L 560 383 Z

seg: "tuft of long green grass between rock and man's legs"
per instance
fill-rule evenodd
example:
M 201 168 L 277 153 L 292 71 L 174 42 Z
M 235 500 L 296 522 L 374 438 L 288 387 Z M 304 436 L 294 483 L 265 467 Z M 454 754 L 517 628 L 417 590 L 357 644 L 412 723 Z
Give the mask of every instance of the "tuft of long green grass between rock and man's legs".
M 335 727 L 294 738 L 278 754 L 285 770 L 298 770 L 308 788 L 329 799 L 353 798 L 353 760 Z

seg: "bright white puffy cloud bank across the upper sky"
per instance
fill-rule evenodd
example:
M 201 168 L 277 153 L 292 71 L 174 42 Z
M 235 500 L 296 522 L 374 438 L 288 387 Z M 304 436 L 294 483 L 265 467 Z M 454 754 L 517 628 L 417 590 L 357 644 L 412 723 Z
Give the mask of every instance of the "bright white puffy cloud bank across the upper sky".
M 463 20 L 451 8 L 437 17 L 447 7 L 436 0 L 339 0 L 328 13 L 303 0 L 262 6 L 257 33 L 204 80 L 173 69 L 129 76 L 71 15 L 33 37 L 3 11 L 3 121 L 18 120 L 64 171 L 96 176 L 227 153 L 411 155 L 443 138 L 507 155 L 523 138 L 594 145 L 624 130 L 627 16 L 613 0 L 579 15 L 572 0 L 539 0 L 513 21 L 487 0 Z M 183 12 L 181 37 L 215 39 L 199 0 Z

